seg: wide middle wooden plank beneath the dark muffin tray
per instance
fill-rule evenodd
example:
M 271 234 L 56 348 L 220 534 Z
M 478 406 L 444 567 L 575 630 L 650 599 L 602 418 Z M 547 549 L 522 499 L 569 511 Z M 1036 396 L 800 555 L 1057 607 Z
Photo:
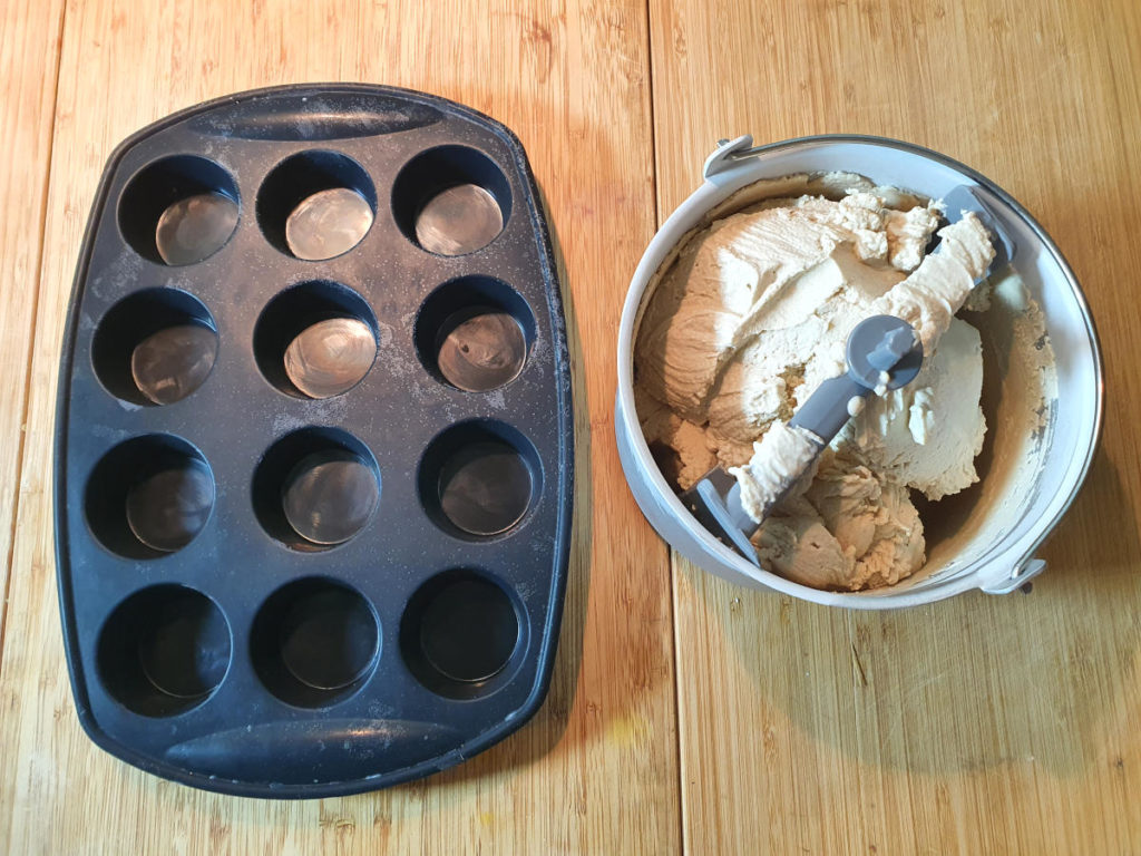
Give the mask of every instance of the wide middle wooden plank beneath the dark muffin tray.
M 667 554 L 629 496 L 612 430 L 623 283 L 655 227 L 646 26 L 638 2 L 68 6 L 0 671 L 0 842 L 10 853 L 680 848 Z M 568 286 L 577 515 L 553 685 L 535 720 L 426 782 L 264 802 L 144 775 L 80 730 L 59 644 L 50 438 L 72 269 L 114 144 L 204 98 L 311 80 L 437 92 L 523 139 Z

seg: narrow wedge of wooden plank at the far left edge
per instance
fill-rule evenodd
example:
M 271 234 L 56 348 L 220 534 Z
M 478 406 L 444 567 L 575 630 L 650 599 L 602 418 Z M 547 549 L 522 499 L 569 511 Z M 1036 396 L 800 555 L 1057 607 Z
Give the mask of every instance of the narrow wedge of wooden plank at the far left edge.
M 63 0 L 10 0 L 0 8 L 0 139 L 7 161 L 0 168 L 0 659 L 63 11 Z

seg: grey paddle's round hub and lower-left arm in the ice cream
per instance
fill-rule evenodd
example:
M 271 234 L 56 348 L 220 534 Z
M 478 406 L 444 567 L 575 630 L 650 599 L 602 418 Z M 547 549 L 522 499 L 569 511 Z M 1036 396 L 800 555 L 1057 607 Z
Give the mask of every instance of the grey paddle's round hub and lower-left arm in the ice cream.
M 906 321 L 891 315 L 873 315 L 849 334 L 847 356 L 848 373 L 820 383 L 788 422 L 788 427 L 799 429 L 816 451 L 803 470 L 787 474 L 762 509 L 762 519 L 811 468 L 812 461 L 844 423 L 859 412 L 869 393 L 881 387 L 883 390 L 898 389 L 915 379 L 923 365 L 923 346 Z M 736 478 L 715 467 L 682 493 L 681 501 L 715 538 L 759 564 L 750 538 L 760 524 L 742 507 L 741 485 Z

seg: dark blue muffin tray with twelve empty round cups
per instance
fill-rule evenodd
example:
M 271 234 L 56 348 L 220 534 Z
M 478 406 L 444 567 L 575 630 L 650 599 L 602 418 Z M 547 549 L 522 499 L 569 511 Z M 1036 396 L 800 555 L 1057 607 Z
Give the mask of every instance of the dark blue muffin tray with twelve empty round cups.
M 456 186 L 494 200 L 502 232 L 429 252 L 416 218 Z M 358 194 L 371 227 L 305 260 L 291 211 L 330 188 Z M 165 264 L 162 229 L 187 220 L 160 221 L 202 199 L 236 207 L 233 233 Z M 485 315 L 507 318 L 525 358 L 467 391 L 443 355 L 467 354 L 450 331 Z M 307 397 L 283 354 L 335 318 L 371 331 L 375 358 L 347 391 Z M 205 362 L 160 405 L 144 342 L 175 329 L 160 373 L 179 342 L 207 341 Z M 80 721 L 108 752 L 209 790 L 327 797 L 459 764 L 542 703 L 570 543 L 570 381 L 539 193 L 497 122 L 419 92 L 306 86 L 126 140 L 80 255 L 56 430 L 67 661 Z M 338 477 L 367 487 L 347 512 L 359 531 L 338 543 L 289 516 L 314 460 L 348 461 Z M 497 525 L 504 501 L 517 508 Z

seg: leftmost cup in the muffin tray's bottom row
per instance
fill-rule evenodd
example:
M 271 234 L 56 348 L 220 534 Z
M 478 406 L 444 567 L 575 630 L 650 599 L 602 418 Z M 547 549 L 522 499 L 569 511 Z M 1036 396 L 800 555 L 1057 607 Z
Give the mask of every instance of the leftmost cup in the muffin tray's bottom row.
M 229 625 L 215 601 L 167 583 L 135 592 L 111 613 L 96 657 L 115 701 L 145 717 L 170 717 L 218 688 L 230 648 Z

